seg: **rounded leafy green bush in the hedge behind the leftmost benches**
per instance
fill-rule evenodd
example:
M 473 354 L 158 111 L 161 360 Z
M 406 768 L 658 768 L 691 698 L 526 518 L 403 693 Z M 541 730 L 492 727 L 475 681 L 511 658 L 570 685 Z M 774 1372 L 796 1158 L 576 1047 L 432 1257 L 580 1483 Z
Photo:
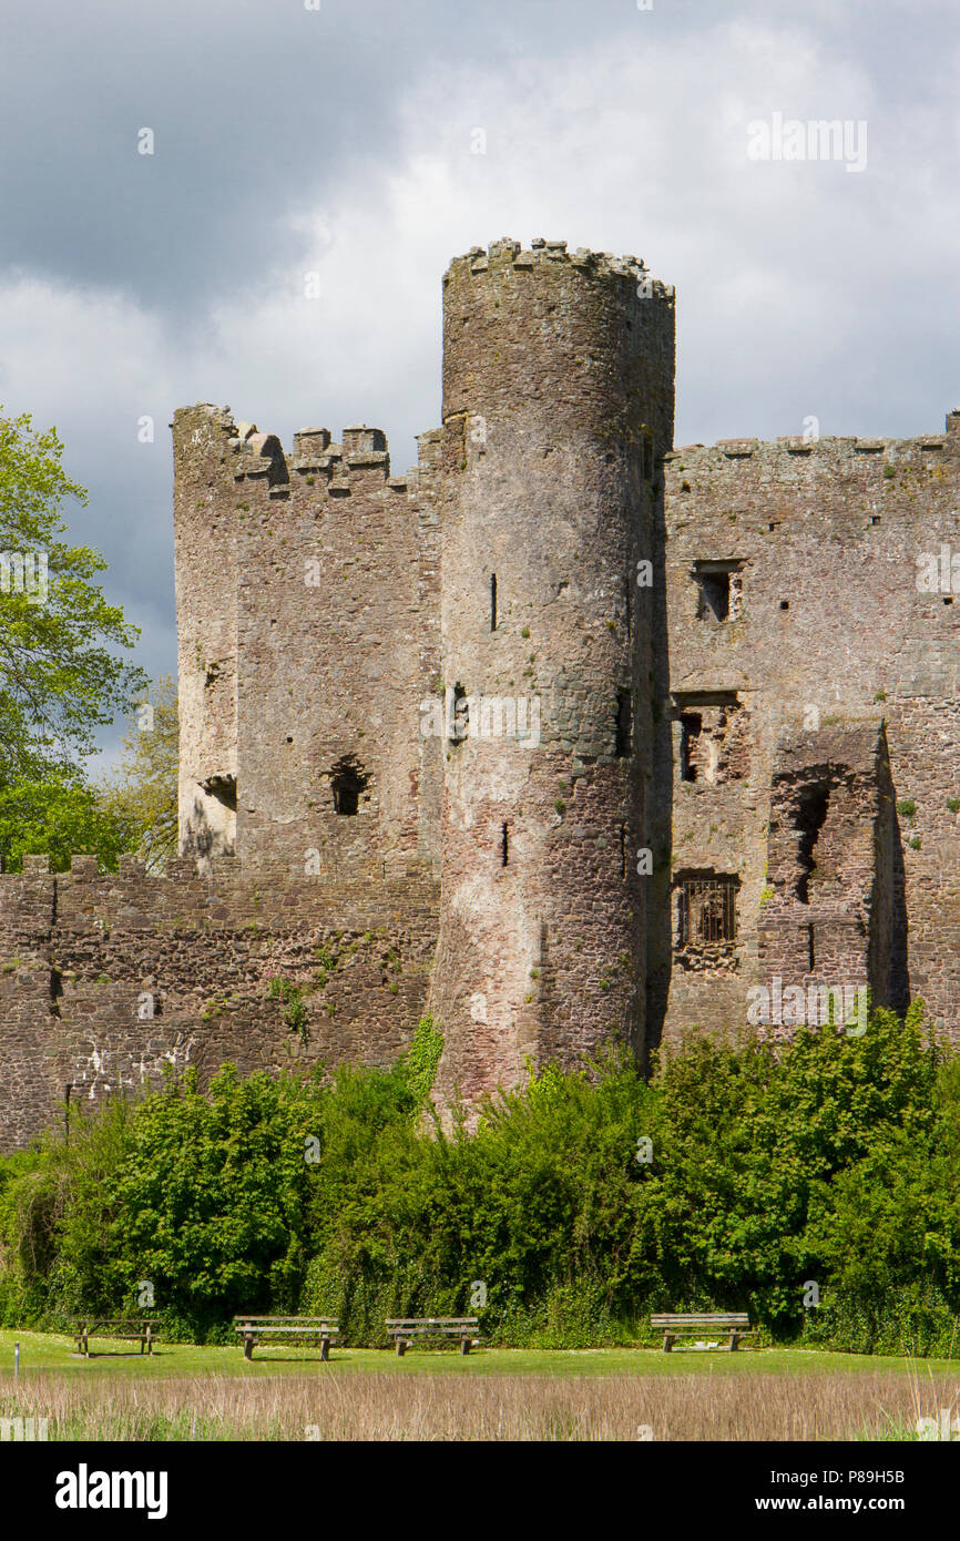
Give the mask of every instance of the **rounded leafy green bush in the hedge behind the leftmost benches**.
M 174 1325 L 225 1341 L 236 1311 L 296 1308 L 307 1264 L 305 1150 L 317 1133 L 317 1088 L 296 1077 L 242 1080 L 227 1065 L 208 1096 L 188 1071 L 148 1097 L 97 1200 L 114 1216 L 100 1245 L 116 1257 L 117 1298 L 131 1304 L 137 1282 L 149 1279 Z M 96 1254 L 83 1257 L 82 1236 L 82 1214 L 68 1214 L 63 1277 L 89 1298 L 103 1276 Z

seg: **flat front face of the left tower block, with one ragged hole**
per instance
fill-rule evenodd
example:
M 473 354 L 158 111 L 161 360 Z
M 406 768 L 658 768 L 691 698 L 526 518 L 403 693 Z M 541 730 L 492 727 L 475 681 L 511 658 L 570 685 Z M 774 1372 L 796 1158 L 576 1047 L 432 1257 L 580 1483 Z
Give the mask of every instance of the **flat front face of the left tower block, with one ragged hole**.
M 418 709 L 433 599 L 416 475 L 390 475 L 376 428 L 345 428 L 342 445 L 297 435 L 288 482 L 250 453 L 237 475 L 243 868 L 311 861 L 327 883 L 415 869 L 430 857 Z

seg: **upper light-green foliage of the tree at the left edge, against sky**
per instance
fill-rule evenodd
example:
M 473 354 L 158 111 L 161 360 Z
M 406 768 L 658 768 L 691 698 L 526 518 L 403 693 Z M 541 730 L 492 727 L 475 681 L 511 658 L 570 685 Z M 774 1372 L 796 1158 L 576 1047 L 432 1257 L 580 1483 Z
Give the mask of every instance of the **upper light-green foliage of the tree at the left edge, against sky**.
M 0 786 L 74 778 L 145 686 L 117 653 L 139 633 L 94 581 L 103 556 L 63 539 L 63 505 L 86 492 L 62 456 L 55 428 L 0 416 Z

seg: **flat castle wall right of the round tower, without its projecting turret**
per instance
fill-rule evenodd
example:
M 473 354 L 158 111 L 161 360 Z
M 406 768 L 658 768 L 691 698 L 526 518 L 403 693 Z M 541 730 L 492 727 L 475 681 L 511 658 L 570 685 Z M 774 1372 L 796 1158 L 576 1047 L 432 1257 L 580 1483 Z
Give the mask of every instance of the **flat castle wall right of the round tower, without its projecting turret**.
M 673 968 L 667 1037 L 690 1022 L 743 1022 L 760 977 L 778 741 L 868 717 L 886 721 L 894 800 L 915 804 L 889 815 L 884 903 L 909 915 L 909 937 L 894 926 L 891 945 L 905 955 L 889 991 L 923 995 L 957 1036 L 960 826 L 948 803 L 960 795 L 957 610 L 952 593 L 918 592 L 917 558 L 955 541 L 960 418 L 945 435 L 906 441 L 695 445 L 666 472 L 672 868 L 738 880 L 733 966 L 700 977 Z M 718 619 L 724 590 L 729 613 Z M 717 703 L 744 713 L 749 767 L 684 780 L 683 738 L 703 735 Z

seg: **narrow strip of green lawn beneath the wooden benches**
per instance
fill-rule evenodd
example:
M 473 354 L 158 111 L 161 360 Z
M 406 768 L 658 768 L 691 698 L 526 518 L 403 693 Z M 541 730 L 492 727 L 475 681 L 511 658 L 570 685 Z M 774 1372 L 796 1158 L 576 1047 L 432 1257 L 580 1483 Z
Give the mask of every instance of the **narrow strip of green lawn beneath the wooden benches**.
M 398 1359 L 385 1348 L 331 1348 L 330 1364 L 322 1364 L 319 1348 L 257 1348 L 257 1358 L 247 1364 L 239 1347 L 199 1348 L 194 1344 L 159 1344 L 153 1355 L 140 1355 L 137 1344 L 111 1342 L 97 1338 L 94 1355 L 82 1359 L 71 1338 L 57 1333 L 0 1330 L 0 1373 L 14 1367 L 14 1344 L 20 1344 L 20 1373 L 39 1370 L 68 1371 L 79 1376 L 122 1375 L 163 1378 L 170 1375 L 231 1375 L 262 1376 L 302 1373 L 388 1370 L 396 1375 L 422 1375 L 436 1370 L 461 1375 L 524 1373 L 524 1375 L 811 1375 L 900 1371 L 926 1378 L 937 1373 L 960 1373 L 957 1359 L 897 1359 L 871 1355 L 821 1353 L 812 1348 L 760 1348 L 735 1355 L 672 1353 L 660 1348 L 479 1348 L 462 1358 L 456 1350 L 413 1348 Z

